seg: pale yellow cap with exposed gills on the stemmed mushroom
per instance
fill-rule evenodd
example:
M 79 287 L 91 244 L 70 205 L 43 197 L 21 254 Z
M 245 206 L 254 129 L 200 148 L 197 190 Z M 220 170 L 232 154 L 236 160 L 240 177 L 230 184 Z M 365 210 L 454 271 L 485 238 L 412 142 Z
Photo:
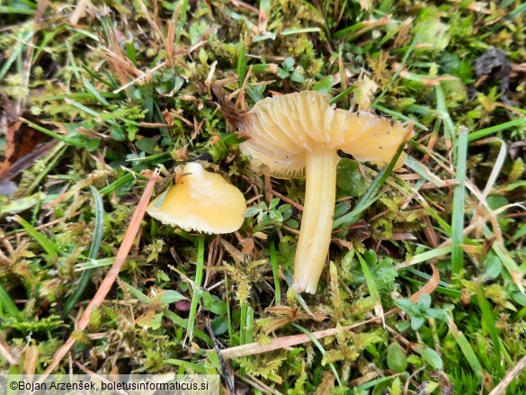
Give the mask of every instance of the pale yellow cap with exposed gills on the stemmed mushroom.
M 240 125 L 250 139 L 240 145 L 253 165 L 273 175 L 297 175 L 305 153 L 314 148 L 342 149 L 359 161 L 388 165 L 404 141 L 406 125 L 370 112 L 334 109 L 325 94 L 304 91 L 266 98 Z M 397 167 L 405 162 L 402 153 Z

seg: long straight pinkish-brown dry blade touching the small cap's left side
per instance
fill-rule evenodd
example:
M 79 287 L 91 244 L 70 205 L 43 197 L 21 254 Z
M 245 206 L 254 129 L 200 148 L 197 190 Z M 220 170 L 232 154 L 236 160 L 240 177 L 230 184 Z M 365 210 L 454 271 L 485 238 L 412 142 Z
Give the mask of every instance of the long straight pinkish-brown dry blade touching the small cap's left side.
M 117 256 L 115 256 L 115 261 L 113 262 L 113 265 L 111 265 L 111 269 L 108 272 L 108 274 L 106 274 L 106 277 L 104 277 L 103 283 L 101 283 L 101 286 L 97 290 L 97 293 L 95 293 L 94 299 L 90 301 L 87 308 L 85 309 L 84 314 L 76 323 L 75 331 L 82 331 L 87 327 L 92 310 L 103 304 L 106 295 L 111 290 L 111 286 L 113 285 L 113 283 L 115 283 L 115 280 L 119 276 L 120 268 L 122 267 L 122 265 L 124 265 L 126 257 L 129 254 L 129 250 L 133 245 L 133 241 L 137 236 L 138 229 L 140 227 L 140 222 L 142 221 L 146 212 L 147 204 L 154 190 L 154 186 L 156 185 L 156 179 L 158 175 L 159 169 L 156 169 L 156 171 L 150 178 L 150 181 L 148 182 L 147 187 L 144 193 L 142 194 L 142 197 L 140 198 L 140 201 L 138 202 L 137 209 L 135 209 L 135 212 L 133 213 L 133 216 L 129 221 L 128 229 L 126 230 L 126 235 L 122 240 L 122 244 L 120 245 L 119 251 L 117 252 Z M 70 350 L 70 348 L 73 345 L 75 345 L 75 342 L 75 337 L 70 336 L 67 339 L 66 343 L 60 348 L 58 348 L 55 355 L 53 355 L 51 364 L 49 364 L 44 373 L 42 373 L 42 375 L 40 376 L 39 382 L 44 382 L 49 376 L 49 374 L 57 368 L 58 364 L 60 364 L 60 361 L 62 361 L 62 358 L 64 358 L 64 356 L 67 355 L 67 352 Z

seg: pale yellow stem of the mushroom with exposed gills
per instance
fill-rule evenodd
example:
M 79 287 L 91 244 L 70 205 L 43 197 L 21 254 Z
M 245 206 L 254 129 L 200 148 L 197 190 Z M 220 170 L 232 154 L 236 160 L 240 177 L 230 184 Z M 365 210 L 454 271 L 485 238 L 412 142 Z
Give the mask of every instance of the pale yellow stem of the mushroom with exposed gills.
M 296 292 L 316 293 L 331 243 L 336 200 L 335 149 L 315 148 L 306 153 L 306 190 L 303 217 L 294 260 Z

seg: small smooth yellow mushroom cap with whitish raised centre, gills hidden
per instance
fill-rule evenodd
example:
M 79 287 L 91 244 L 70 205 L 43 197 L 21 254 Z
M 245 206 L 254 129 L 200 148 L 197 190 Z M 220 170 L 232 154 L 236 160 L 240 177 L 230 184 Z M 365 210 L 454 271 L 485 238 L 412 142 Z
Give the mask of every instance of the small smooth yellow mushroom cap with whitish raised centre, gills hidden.
M 210 234 L 241 228 L 245 210 L 243 193 L 199 163 L 184 166 L 181 180 L 147 207 L 147 213 L 165 225 Z

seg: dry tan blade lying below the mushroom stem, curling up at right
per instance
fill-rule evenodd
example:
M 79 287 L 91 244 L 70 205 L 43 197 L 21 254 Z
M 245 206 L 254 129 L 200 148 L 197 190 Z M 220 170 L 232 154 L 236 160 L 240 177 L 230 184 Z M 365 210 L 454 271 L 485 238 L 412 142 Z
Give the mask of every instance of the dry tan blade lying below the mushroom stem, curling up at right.
M 413 295 L 409 297 L 410 301 L 415 303 L 424 293 L 430 294 L 437 287 L 440 281 L 440 273 L 435 265 L 431 264 L 431 267 L 432 267 L 432 278 L 420 290 L 418 290 L 418 292 L 415 292 Z M 388 312 L 384 315 L 384 317 L 392 316 L 393 314 L 397 314 L 398 312 L 400 312 L 400 309 L 398 308 L 388 310 Z M 367 319 L 365 321 L 347 325 L 345 327 L 342 327 L 342 329 L 350 330 L 350 329 L 358 328 L 363 325 L 371 324 L 377 321 L 381 321 L 381 318 L 374 317 L 372 319 Z M 226 348 L 223 351 L 221 351 L 221 355 L 223 356 L 224 359 L 232 359 L 232 358 L 239 358 L 241 356 L 246 356 L 246 355 L 256 355 L 256 354 L 261 354 L 261 353 L 267 353 L 269 351 L 279 350 L 285 347 L 298 346 L 303 343 L 308 343 L 312 340 L 312 337 L 319 339 L 323 337 L 333 336 L 337 332 L 338 332 L 337 328 L 330 328 L 330 329 L 325 329 L 325 330 L 319 330 L 316 332 L 311 332 L 309 335 L 301 334 L 301 335 L 293 335 L 293 336 L 287 336 L 287 337 L 276 337 L 272 339 L 270 343 L 266 343 L 266 344 L 255 342 L 255 343 L 250 343 L 248 345 Z

